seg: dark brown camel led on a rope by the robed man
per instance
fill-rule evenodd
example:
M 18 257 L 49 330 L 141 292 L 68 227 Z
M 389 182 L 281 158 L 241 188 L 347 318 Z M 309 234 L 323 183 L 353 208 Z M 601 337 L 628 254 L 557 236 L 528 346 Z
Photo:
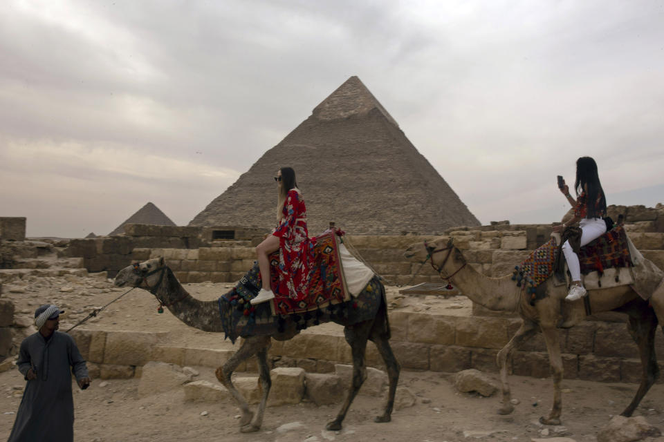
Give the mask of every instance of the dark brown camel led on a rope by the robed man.
M 248 276 L 255 278 L 258 272 L 258 265 L 255 265 L 255 267 L 247 274 Z M 224 329 L 221 320 L 221 314 L 223 311 L 220 311 L 220 309 L 233 308 L 224 307 L 228 306 L 228 303 L 217 302 L 216 300 L 204 302 L 192 297 L 182 287 L 171 269 L 165 265 L 163 258 L 154 258 L 141 262 L 140 264 L 137 263 L 125 267 L 118 272 L 115 284 L 118 287 L 138 287 L 150 291 L 161 305 L 167 307 L 167 309 L 169 309 L 171 313 L 183 323 L 205 332 L 223 332 Z M 238 285 L 239 284 L 240 282 L 238 282 Z M 337 307 L 339 308 L 336 310 L 332 309 L 332 313 L 324 312 L 322 315 L 312 315 L 311 318 L 308 318 L 307 316 L 304 327 L 302 326 L 302 318 L 299 318 L 299 322 L 296 323 L 291 319 L 291 316 L 294 315 L 291 315 L 282 318 L 284 320 L 279 321 L 279 325 L 275 325 L 269 334 L 257 334 L 255 336 L 243 336 L 243 334 L 240 334 L 243 338 L 241 347 L 223 364 L 223 366 L 216 369 L 216 378 L 218 378 L 219 382 L 228 389 L 240 407 L 241 432 L 258 431 L 263 423 L 263 414 L 271 385 L 270 367 L 268 366 L 270 338 L 276 340 L 288 340 L 299 334 L 300 329 L 306 328 L 306 326 L 317 325 L 318 323 L 324 323 L 330 320 L 340 325 L 344 325 L 344 336 L 349 345 L 351 345 L 353 354 L 353 378 L 349 392 L 337 414 L 337 417 L 333 419 L 333 421 L 327 423 L 326 429 L 341 429 L 342 421 L 351 406 L 353 398 L 355 398 L 362 383 L 367 378 L 367 369 L 365 367 L 365 349 L 367 347 L 367 340 L 372 340 L 376 344 L 378 352 L 380 352 L 383 361 L 385 361 L 387 375 L 389 377 L 389 392 L 385 410 L 383 411 L 383 414 L 377 416 L 374 421 L 390 421 L 400 366 L 389 345 L 390 334 L 389 323 L 387 320 L 387 305 L 385 302 L 385 287 L 382 286 L 378 278 L 369 281 L 367 287 L 365 287 L 354 300 L 345 304 L 362 302 L 362 300 L 374 303 L 374 305 L 371 306 L 372 308 L 369 309 L 374 312 L 371 318 L 353 322 L 349 314 L 344 316 L 339 313 L 339 311 L 342 311 L 344 305 L 338 305 Z M 267 303 L 264 303 L 264 305 L 266 309 L 269 308 Z M 335 313 L 335 311 L 337 311 L 337 313 Z M 243 398 L 240 392 L 237 391 L 231 381 L 231 374 L 234 369 L 236 369 L 242 361 L 245 361 L 253 355 L 257 356 L 260 381 L 263 387 L 263 395 L 255 416 L 249 410 L 245 398 Z

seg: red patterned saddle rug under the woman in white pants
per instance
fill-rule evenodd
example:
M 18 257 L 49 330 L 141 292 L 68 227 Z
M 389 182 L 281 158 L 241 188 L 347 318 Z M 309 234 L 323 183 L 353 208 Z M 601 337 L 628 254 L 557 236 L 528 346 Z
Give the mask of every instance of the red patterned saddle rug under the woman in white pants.
M 558 253 L 560 253 L 560 247 L 556 244 L 555 239 L 551 238 L 546 244 L 535 249 L 521 265 L 515 266 L 512 279 L 517 282 L 517 287 L 524 287 L 531 304 L 543 296 L 538 293 L 537 287 L 553 274 Z M 632 266 L 627 234 L 625 229 L 619 225 L 581 247 L 578 257 L 583 275 L 596 271 L 599 276 L 602 276 L 605 269 Z M 629 282 L 626 281 L 625 284 L 627 283 Z

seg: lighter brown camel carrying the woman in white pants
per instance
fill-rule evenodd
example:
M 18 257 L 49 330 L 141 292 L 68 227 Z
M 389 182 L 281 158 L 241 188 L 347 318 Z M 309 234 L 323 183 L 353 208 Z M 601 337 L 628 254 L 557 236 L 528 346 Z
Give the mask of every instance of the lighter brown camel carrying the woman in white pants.
M 465 296 L 473 302 L 491 310 L 518 311 L 523 323 L 517 333 L 497 356 L 502 383 L 502 407 L 499 414 L 510 414 L 514 407 L 510 403 L 510 385 L 507 379 L 507 360 L 510 352 L 518 348 L 537 332 L 542 332 L 549 363 L 553 374 L 553 407 L 548 417 L 542 416 L 540 422 L 546 425 L 560 425 L 562 401 L 560 382 L 562 381 L 562 358 L 560 343 L 558 342 L 557 328 L 569 328 L 578 324 L 586 317 L 583 300 L 565 302 L 567 294 L 565 285 L 553 285 L 553 278 L 543 282 L 537 291 L 543 291 L 546 296 L 535 302 L 532 306 L 522 289 L 517 287 L 511 275 L 501 278 L 484 276 L 467 262 L 463 253 L 454 246 L 452 238 L 438 238 L 436 240 L 412 244 L 405 253 L 406 258 L 420 260 L 431 259 L 434 269 L 439 271 L 441 278 L 450 280 L 459 287 Z M 647 260 L 645 260 L 647 261 Z M 661 280 L 659 271 L 652 262 L 645 262 L 642 268 L 651 271 L 655 269 L 657 277 Z M 635 267 L 635 278 L 638 278 L 639 267 Z M 652 278 L 652 274 L 641 276 Z M 636 396 L 623 411 L 623 416 L 631 416 L 643 396 L 656 381 L 658 367 L 654 349 L 654 334 L 657 327 L 657 318 L 664 318 L 664 293 L 659 291 L 650 299 L 652 307 L 644 301 L 636 291 L 629 286 L 614 287 L 589 291 L 589 302 L 593 313 L 602 311 L 620 311 L 629 316 L 629 332 L 638 345 L 643 376 L 636 392 Z

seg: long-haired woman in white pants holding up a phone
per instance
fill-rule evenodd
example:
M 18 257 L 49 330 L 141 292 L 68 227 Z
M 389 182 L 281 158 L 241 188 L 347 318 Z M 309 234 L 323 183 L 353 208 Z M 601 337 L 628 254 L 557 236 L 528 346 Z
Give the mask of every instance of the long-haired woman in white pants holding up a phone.
M 575 224 L 575 222 L 580 222 L 579 227 L 582 231 L 581 247 L 583 247 L 607 231 L 607 224 L 602 219 L 607 215 L 607 198 L 604 195 L 600 177 L 597 173 L 597 163 L 591 157 L 580 157 L 576 160 L 574 190 L 577 199 L 572 198 L 569 194 L 569 187 L 564 182 L 563 186 L 560 187 L 560 191 L 574 208 L 574 216 L 564 224 L 555 226 L 553 231 L 562 232 L 566 227 Z M 562 244 L 562 251 L 565 254 L 569 273 L 572 276 L 572 284 L 565 300 L 578 300 L 587 294 L 581 282 L 579 257 L 572 250 L 569 241 Z

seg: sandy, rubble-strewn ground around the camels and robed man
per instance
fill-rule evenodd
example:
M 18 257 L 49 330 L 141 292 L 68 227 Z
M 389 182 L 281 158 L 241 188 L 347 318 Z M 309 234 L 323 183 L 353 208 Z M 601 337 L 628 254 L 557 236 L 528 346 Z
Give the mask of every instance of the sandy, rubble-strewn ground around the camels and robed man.
M 187 290 L 197 298 L 215 299 L 228 284 L 192 284 Z M 15 300 L 17 319 L 30 323 L 34 309 L 56 303 L 67 310 L 61 330 L 84 318 L 95 307 L 113 300 L 116 289 L 104 278 L 28 278 L 6 284 L 4 294 Z M 462 297 L 403 297 L 389 287 L 392 309 L 445 311 L 469 314 L 470 302 Z M 219 334 L 186 327 L 171 314 L 157 314 L 158 303 L 146 291 L 134 290 L 86 323 L 86 328 L 168 332 L 163 340 L 195 347 L 231 348 Z M 24 329 L 26 333 L 30 328 Z M 196 367 L 197 379 L 215 381 L 212 369 Z M 138 395 L 139 379 L 93 380 L 88 390 L 75 387 L 75 439 L 77 441 L 530 441 L 533 437 L 568 436 L 595 441 L 596 432 L 619 414 L 636 392 L 635 384 L 589 381 L 563 382 L 563 427 L 543 427 L 537 422 L 551 407 L 553 392 L 548 379 L 511 376 L 513 397 L 520 401 L 510 416 L 499 416 L 499 396 L 483 398 L 454 390 L 450 374 L 403 372 L 400 386 L 418 400 L 394 412 L 391 423 L 374 423 L 384 398 L 361 395 L 351 407 L 344 429 L 327 432 L 325 423 L 340 405 L 316 407 L 312 403 L 268 407 L 260 432 L 239 432 L 233 403 L 185 403 L 183 390 L 147 397 Z M 10 433 L 25 383 L 16 369 L 0 374 L 0 439 Z M 102 386 L 103 385 L 103 386 Z M 664 430 L 664 385 L 655 385 L 636 414 Z M 203 412 L 207 412 L 202 415 Z M 469 433 L 470 432 L 470 433 Z M 544 432 L 544 433 L 543 433 Z M 664 440 L 664 439 L 662 439 Z

